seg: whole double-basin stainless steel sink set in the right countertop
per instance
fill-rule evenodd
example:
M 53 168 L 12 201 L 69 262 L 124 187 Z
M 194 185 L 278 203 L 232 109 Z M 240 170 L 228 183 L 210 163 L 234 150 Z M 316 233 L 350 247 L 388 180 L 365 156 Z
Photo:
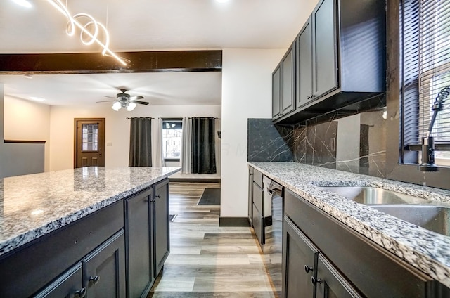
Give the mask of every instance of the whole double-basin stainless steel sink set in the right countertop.
M 349 200 L 408 221 L 442 235 L 450 236 L 450 205 L 405 195 L 392 190 L 366 186 L 323 187 Z

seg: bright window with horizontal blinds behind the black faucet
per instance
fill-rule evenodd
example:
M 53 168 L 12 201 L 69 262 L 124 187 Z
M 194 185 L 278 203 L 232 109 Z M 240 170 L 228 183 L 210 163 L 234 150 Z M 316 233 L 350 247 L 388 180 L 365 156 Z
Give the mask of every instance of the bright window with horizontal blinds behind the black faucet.
M 437 94 L 450 86 L 450 1 L 404 0 L 401 5 L 402 116 L 401 142 L 407 150 L 427 135 Z M 450 163 L 450 96 L 437 113 L 432 129 L 439 165 Z M 404 151 L 405 163 L 417 163 L 418 155 Z

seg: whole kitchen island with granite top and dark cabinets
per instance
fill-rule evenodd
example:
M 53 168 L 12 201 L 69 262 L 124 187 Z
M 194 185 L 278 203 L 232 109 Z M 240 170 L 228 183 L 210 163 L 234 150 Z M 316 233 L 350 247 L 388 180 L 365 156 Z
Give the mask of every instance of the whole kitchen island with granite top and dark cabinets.
M 108 278 L 96 272 L 87 275 L 89 261 L 97 273 L 109 266 L 105 272 L 117 279 L 110 297 L 125 296 L 129 290 L 125 269 L 128 273 L 128 265 L 134 266 L 136 258 L 148 255 L 151 268 L 147 269 L 154 278 L 159 273 L 154 264 L 160 247 L 156 240 L 163 235 L 168 241 L 167 177 L 179 170 L 84 167 L 1 179 L 0 296 L 51 297 L 60 294 L 52 293 L 59 285 L 75 279 L 77 286 L 61 288 L 70 290 L 69 297 L 84 297 L 89 285 L 98 284 L 98 289 L 108 285 Z M 160 222 L 155 221 L 158 214 Z M 137 219 L 141 222 L 134 222 Z M 148 233 L 141 238 L 153 241 L 148 243 L 148 254 L 141 249 L 141 256 L 133 255 L 132 241 L 137 237 L 132 227 L 146 225 Z M 162 227 L 162 233 L 155 225 Z M 169 249 L 167 244 L 162 247 Z M 102 254 L 105 262 L 96 259 Z M 167 254 L 162 252 L 160 259 Z M 151 278 L 146 290 L 150 282 Z M 96 297 L 94 292 L 89 297 Z

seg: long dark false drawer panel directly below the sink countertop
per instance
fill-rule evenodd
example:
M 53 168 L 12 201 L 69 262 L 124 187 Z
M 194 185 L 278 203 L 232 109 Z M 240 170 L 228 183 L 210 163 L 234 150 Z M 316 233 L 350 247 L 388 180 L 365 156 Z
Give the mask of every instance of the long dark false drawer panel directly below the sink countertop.
M 435 297 L 437 283 L 383 247 L 285 192 L 285 214 L 367 297 Z

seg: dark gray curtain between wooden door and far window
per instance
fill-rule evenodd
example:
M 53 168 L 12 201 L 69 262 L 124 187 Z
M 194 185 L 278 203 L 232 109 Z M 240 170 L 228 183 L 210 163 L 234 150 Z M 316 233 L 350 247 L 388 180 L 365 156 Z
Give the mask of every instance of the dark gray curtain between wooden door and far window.
M 152 119 L 139 117 L 130 119 L 129 167 L 152 166 Z

